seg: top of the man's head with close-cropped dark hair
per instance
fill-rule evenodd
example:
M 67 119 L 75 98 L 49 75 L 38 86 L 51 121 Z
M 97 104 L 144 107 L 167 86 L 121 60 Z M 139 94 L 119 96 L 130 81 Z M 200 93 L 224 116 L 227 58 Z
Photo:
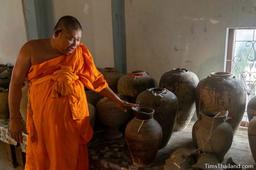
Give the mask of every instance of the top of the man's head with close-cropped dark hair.
M 54 27 L 54 31 L 57 29 L 62 31 L 68 30 L 80 30 L 82 31 L 82 26 L 74 16 L 62 16 Z

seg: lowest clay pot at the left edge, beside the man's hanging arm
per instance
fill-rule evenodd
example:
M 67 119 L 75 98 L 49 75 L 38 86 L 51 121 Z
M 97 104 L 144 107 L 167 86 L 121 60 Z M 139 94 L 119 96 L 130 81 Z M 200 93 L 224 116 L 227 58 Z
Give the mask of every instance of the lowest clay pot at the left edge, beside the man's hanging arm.
M 8 89 L 0 88 L 0 118 L 9 118 Z

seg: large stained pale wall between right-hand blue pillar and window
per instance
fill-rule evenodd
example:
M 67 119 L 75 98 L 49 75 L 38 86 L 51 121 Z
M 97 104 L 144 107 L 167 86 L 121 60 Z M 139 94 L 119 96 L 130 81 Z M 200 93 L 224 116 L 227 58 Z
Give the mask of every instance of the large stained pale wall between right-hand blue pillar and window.
M 127 69 L 187 68 L 199 80 L 224 70 L 226 29 L 255 27 L 256 0 L 125 1 Z

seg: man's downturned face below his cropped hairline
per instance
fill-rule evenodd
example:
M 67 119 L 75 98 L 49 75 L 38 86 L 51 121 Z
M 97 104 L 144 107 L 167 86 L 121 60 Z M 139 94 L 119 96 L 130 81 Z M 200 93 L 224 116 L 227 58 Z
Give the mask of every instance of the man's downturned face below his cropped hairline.
M 57 49 L 63 54 L 71 54 L 80 44 L 82 30 L 63 30 L 57 38 Z

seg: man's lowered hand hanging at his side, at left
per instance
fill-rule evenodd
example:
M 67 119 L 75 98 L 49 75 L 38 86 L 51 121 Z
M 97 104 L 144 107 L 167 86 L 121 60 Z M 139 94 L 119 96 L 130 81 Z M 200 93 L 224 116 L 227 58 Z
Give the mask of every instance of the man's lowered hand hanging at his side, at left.
M 20 119 L 10 120 L 11 138 L 13 138 L 16 142 L 23 143 L 22 132 L 28 134 L 22 121 Z

